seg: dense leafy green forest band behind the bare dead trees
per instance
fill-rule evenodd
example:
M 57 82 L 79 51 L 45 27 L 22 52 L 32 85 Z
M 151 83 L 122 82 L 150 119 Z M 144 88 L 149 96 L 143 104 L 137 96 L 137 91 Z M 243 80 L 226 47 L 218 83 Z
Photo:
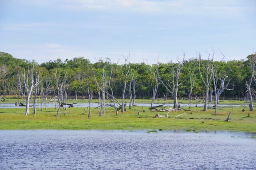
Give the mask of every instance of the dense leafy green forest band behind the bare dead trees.
M 110 88 L 112 88 L 116 98 L 122 97 L 124 89 L 125 98 L 134 98 L 134 93 L 136 98 L 152 98 L 154 89 L 157 89 L 156 98 L 173 98 L 171 92 L 174 89 L 172 87 L 177 80 L 181 83 L 177 88 L 178 98 L 188 98 L 192 85 L 192 98 L 204 98 L 206 94 L 204 80 L 209 75 L 206 66 L 210 61 L 213 68 L 218 67 L 218 71 L 212 73 L 216 78 L 216 86 L 225 86 L 225 84 L 219 84 L 221 78 L 226 78 L 225 83 L 230 80 L 228 86 L 220 94 L 220 98 L 248 100 L 246 82 L 250 82 L 252 77 L 250 58 L 256 58 L 256 54 L 245 56 L 245 58 L 245 60 L 220 62 L 213 61 L 213 58 L 200 60 L 199 57 L 174 63 L 148 65 L 144 62 L 132 63 L 132 58 L 129 62 L 129 57 L 120 58 L 120 60 L 125 60 L 126 64 L 112 63 L 108 58 L 100 58 L 98 62 L 92 64 L 84 57 L 77 57 L 72 60 L 57 59 L 38 64 L 36 61 L 17 59 L 11 54 L 0 52 L 0 96 L 10 95 L 14 97 L 19 94 L 26 96 L 24 84 L 26 80 L 29 80 L 28 84 L 31 83 L 30 77 L 33 75 L 34 81 L 36 76 L 38 78 L 38 85 L 36 86 L 38 96 L 56 95 L 58 93 L 57 82 L 60 83 L 65 76 L 63 85 L 69 98 L 76 96 L 78 99 L 88 98 L 88 94 L 92 94 L 93 98 L 98 98 L 102 90 L 100 87 L 103 87 L 107 92 L 106 98 L 109 97 L 108 94 L 111 94 Z M 178 70 L 179 67 L 180 70 Z M 177 71 L 179 71 L 178 79 L 174 79 Z M 212 77 L 214 78 L 214 76 Z M 209 82 L 208 94 L 214 90 L 213 78 Z M 170 87 L 169 91 L 163 84 Z M 256 89 L 254 81 L 252 81 L 250 88 L 253 95 Z M 35 89 L 32 93 L 34 92 Z

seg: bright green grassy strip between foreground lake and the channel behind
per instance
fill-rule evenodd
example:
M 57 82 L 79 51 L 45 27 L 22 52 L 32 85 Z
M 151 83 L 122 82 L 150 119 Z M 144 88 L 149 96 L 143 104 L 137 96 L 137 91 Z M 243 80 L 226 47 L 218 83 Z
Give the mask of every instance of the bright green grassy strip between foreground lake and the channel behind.
M 13 99 L 10 99 L 13 100 Z M 79 102 L 81 100 L 78 100 Z M 8 99 L 7 99 L 8 102 Z M 13 101 L 12 101 L 13 102 Z M 12 103 L 11 102 L 11 103 Z M 15 99 L 14 99 L 15 102 Z M 69 103 L 75 102 L 69 100 Z M 86 101 L 84 101 L 86 102 Z M 94 101 L 98 102 L 98 101 Z M 137 101 L 139 102 L 139 101 Z M 143 102 L 143 100 L 142 100 Z M 240 101 L 238 101 L 240 102 Z M 162 101 L 161 101 L 162 103 Z M 170 101 L 171 103 L 171 101 Z M 244 102 L 243 102 L 244 103 Z M 243 104 L 242 102 L 240 104 Z M 0 103 L 0 105 L 2 102 Z M 223 104 L 223 103 L 221 103 Z M 232 101 L 225 102 L 232 104 Z M 106 117 L 99 116 L 97 109 L 92 108 L 92 117 L 88 118 L 87 108 L 67 108 L 66 115 L 63 110 L 59 113 L 59 119 L 56 119 L 57 110 L 48 108 L 47 111 L 36 111 L 36 116 L 32 114 L 33 108 L 30 108 L 30 114 L 25 116 L 25 108 L 1 108 L 0 109 L 0 130 L 9 129 L 62 129 L 62 130 L 187 130 L 187 131 L 205 131 L 205 130 L 228 130 L 240 132 L 256 132 L 256 112 L 250 112 L 247 107 L 245 112 L 243 106 L 226 107 L 218 109 L 218 116 L 215 116 L 214 109 L 201 111 L 202 108 L 190 108 L 191 111 L 170 112 L 168 118 L 154 118 L 156 114 L 167 114 L 166 112 L 151 112 L 149 107 L 144 107 L 138 115 L 139 106 L 133 106 L 131 110 L 124 113 L 119 112 L 116 115 L 114 108 L 106 108 Z M 44 108 L 43 108 L 44 109 Z M 189 108 L 186 108 L 189 109 Z M 85 114 L 82 114 L 84 113 Z M 228 113 L 232 111 L 230 122 L 224 122 Z M 184 113 L 178 118 L 175 116 Z M 191 114 L 192 113 L 192 114 Z M 204 123 L 202 123 L 204 122 Z

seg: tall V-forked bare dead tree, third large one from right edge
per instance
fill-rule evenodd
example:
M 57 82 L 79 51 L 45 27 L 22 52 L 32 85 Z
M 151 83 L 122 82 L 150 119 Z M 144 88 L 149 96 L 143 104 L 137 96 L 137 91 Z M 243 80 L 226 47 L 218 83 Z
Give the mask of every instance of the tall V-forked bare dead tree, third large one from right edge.
M 208 60 L 206 61 L 206 64 L 202 63 L 202 54 L 200 52 L 196 52 L 198 55 L 198 63 L 199 63 L 199 73 L 201 76 L 201 79 L 204 83 L 204 86 L 206 87 L 206 92 L 205 92 L 205 99 L 204 99 L 204 111 L 207 110 L 207 102 L 208 102 L 208 93 L 209 93 L 209 86 L 210 82 L 212 80 L 212 75 L 214 73 L 214 50 L 212 50 L 212 58 L 210 58 L 210 54 L 208 53 Z M 202 75 L 202 69 L 204 70 L 204 76 Z

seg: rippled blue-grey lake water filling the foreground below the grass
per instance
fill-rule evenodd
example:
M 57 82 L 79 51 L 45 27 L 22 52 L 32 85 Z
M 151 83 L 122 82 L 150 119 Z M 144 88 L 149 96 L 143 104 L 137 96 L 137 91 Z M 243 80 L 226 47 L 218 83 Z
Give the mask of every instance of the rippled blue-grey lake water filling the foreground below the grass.
M 0 169 L 255 170 L 256 134 L 0 130 Z

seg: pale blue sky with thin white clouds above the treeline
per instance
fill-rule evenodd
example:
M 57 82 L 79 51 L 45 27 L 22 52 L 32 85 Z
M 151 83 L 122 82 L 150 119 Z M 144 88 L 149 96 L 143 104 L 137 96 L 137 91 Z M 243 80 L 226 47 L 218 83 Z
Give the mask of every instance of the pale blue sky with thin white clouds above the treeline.
M 39 64 L 84 57 L 123 64 L 256 51 L 256 0 L 0 0 L 0 51 Z

